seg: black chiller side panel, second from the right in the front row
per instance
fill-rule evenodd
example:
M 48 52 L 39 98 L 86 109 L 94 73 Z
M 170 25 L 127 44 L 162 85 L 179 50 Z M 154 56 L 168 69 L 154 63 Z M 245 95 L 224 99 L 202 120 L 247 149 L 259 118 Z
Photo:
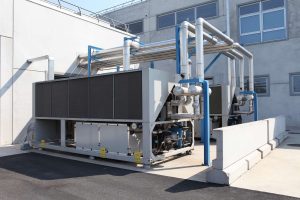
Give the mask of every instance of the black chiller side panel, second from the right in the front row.
M 113 75 L 90 78 L 90 118 L 113 119 Z

